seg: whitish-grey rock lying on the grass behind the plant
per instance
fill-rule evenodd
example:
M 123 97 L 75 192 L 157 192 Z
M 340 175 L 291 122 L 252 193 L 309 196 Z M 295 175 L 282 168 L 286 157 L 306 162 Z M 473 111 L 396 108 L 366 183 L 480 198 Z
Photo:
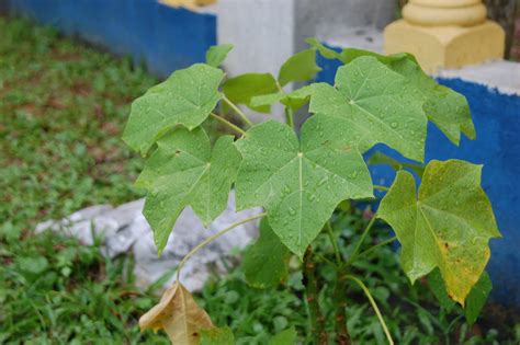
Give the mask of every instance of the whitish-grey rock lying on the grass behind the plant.
M 227 209 L 206 229 L 191 208 L 186 208 L 179 217 L 159 257 L 151 229 L 142 212 L 144 203 L 145 199 L 139 199 L 118 207 L 110 205 L 88 207 L 61 220 L 39 223 L 36 232 L 48 230 L 61 232 L 77 238 L 86 245 L 93 244 L 93 235 L 101 237 L 103 255 L 110 257 L 127 253 L 134 255 L 134 274 L 138 285 L 148 286 L 163 275 L 170 274 L 165 284 L 168 286 L 176 278 L 176 266 L 200 242 L 231 223 L 261 212 L 259 208 L 236 212 L 235 194 L 230 193 Z M 211 269 L 224 272 L 222 260 L 231 250 L 244 249 L 249 244 L 257 237 L 258 223 L 257 220 L 241 225 L 192 256 L 181 274 L 181 280 L 186 288 L 197 291 L 204 285 Z

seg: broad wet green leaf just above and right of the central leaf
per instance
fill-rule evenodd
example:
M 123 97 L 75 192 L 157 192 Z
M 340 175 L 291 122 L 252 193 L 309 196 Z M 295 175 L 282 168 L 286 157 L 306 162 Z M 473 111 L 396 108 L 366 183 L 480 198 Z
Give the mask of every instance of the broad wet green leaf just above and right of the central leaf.
M 351 128 L 362 152 L 382 142 L 422 161 L 428 123 L 422 103 L 403 76 L 374 57 L 360 57 L 338 69 L 335 88 L 314 85 L 309 112 L 334 118 L 343 130 Z M 344 141 L 330 136 L 337 139 Z

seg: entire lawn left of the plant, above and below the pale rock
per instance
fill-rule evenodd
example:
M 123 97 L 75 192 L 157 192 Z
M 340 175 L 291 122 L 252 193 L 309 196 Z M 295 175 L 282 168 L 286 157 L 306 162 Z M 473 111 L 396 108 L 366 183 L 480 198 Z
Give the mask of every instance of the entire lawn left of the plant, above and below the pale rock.
M 136 343 L 152 291 L 122 274 L 132 258 L 32 229 L 140 196 L 142 160 L 120 135 L 156 80 L 25 21 L 0 18 L 0 344 Z

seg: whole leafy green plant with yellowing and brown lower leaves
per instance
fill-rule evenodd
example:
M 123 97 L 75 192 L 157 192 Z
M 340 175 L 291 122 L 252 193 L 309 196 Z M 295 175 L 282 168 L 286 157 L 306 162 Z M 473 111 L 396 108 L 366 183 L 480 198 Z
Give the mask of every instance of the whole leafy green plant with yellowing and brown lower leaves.
M 218 66 L 230 46 L 213 47 L 207 64 L 176 71 L 133 103 L 123 139 L 143 156 L 149 154 L 136 184 L 147 189 L 144 214 L 159 253 L 185 207 L 208 225 L 225 209 L 233 185 L 238 209 L 264 209 L 193 249 L 178 267 L 178 283 L 143 318 L 144 329 L 167 329 L 176 334 L 176 344 L 231 344 L 233 334 L 208 324 L 206 312 L 185 297 L 179 276 L 184 262 L 201 248 L 259 218 L 263 218 L 260 238 L 244 258 L 246 279 L 258 288 L 276 286 L 286 279 L 289 262 L 295 255 L 302 263 L 313 343 L 350 343 L 347 292 L 352 287 L 366 296 L 393 343 L 373 292 L 353 267 L 361 257 L 395 240 L 400 242 L 402 266 L 411 283 L 428 276 L 440 302 L 464 306 L 470 323 L 484 306 L 490 290 L 485 274 L 488 241 L 500 234 L 479 185 L 482 166 L 460 160 L 431 161 L 423 169 L 412 169 L 420 174 L 416 179 L 403 170 L 410 164 L 393 163 L 400 170 L 388 188 L 373 185 L 362 157 L 375 143 L 384 143 L 420 165 L 428 120 L 454 145 L 461 134 L 474 139 L 464 96 L 437 84 L 410 55 L 381 56 L 359 49 L 337 53 L 315 39 L 307 42 L 312 48 L 291 57 L 278 78 L 248 73 L 224 83 L 225 73 Z M 286 84 L 312 80 L 319 71 L 316 51 L 344 64 L 335 85 L 312 83 L 286 93 Z M 253 125 L 238 107 L 244 104 L 269 113 L 276 102 L 285 106 L 286 124 L 267 120 Z M 298 110 L 306 103 L 312 115 L 297 133 L 294 116 L 302 116 Z M 226 118 L 228 111 L 246 129 Z M 221 136 L 212 146 L 201 127 L 210 117 L 236 136 Z M 418 194 L 416 180 L 421 181 Z M 335 209 L 353 200 L 374 199 L 374 189 L 386 195 L 359 241 L 346 253 L 330 218 Z M 387 222 L 396 237 L 365 248 L 377 221 Z M 328 237 L 332 254 L 316 244 L 320 233 Z M 327 263 L 335 273 L 331 290 L 324 289 L 317 279 L 317 262 Z M 330 292 L 334 303 L 334 331 L 327 327 L 329 317 L 323 313 L 324 291 Z M 271 342 L 283 338 L 289 344 L 295 337 L 290 329 Z

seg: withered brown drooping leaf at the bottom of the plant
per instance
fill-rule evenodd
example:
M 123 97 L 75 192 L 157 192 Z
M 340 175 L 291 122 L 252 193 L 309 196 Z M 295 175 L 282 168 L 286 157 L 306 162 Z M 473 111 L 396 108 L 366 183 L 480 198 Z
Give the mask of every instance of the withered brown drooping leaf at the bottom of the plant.
M 176 281 L 162 294 L 159 304 L 140 317 L 139 326 L 142 331 L 165 330 L 176 345 L 199 345 L 202 330 L 213 329 L 213 323 L 190 291 Z

